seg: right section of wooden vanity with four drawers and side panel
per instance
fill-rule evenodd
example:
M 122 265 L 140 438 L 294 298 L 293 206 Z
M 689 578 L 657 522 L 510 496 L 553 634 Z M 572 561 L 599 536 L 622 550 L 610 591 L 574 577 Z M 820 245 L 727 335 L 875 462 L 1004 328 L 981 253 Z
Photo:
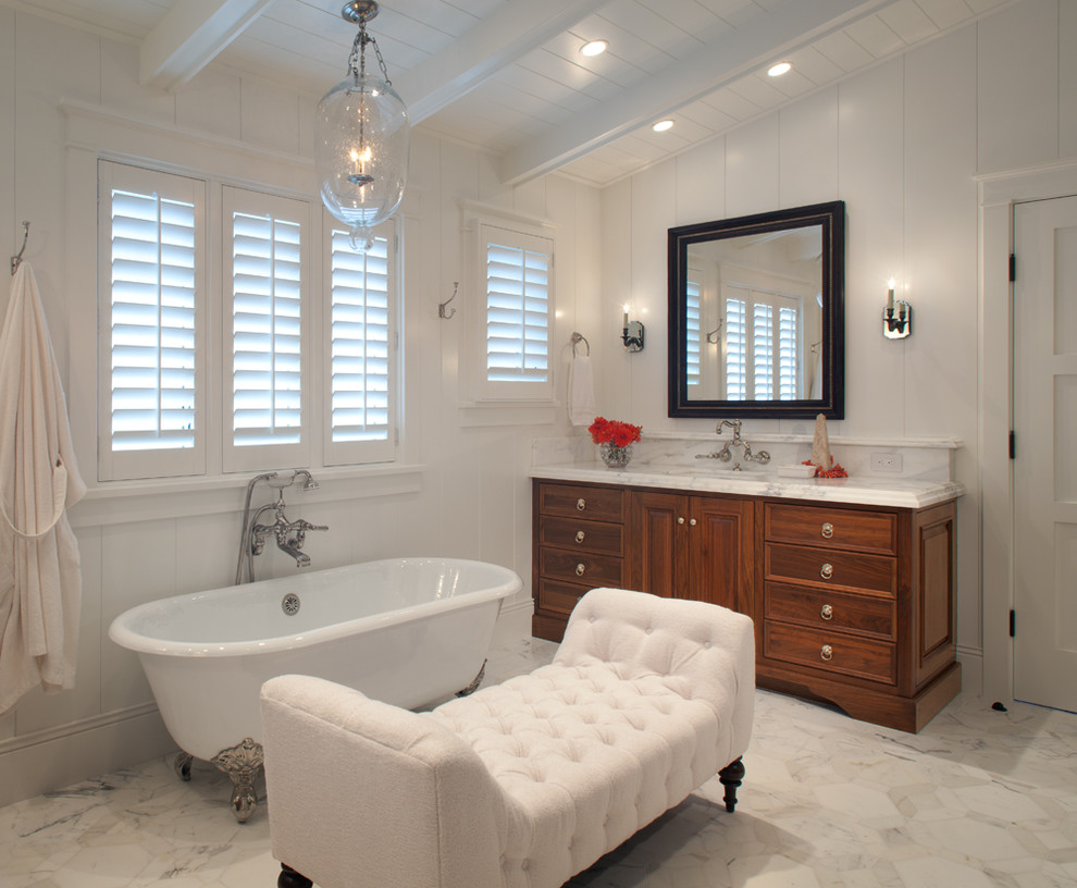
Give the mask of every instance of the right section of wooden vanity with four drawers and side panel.
M 759 686 L 918 731 L 961 689 L 954 504 L 759 508 Z

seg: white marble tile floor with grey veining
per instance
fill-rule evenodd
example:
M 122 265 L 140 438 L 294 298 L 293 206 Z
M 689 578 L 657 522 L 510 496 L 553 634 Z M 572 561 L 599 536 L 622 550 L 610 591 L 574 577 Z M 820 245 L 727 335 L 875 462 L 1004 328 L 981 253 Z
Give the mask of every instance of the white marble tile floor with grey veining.
M 554 650 L 492 651 L 486 681 Z M 907 735 L 758 691 L 744 761 L 735 814 L 714 779 L 567 888 L 1077 886 L 1077 716 L 958 698 Z M 230 793 L 154 760 L 0 809 L 0 888 L 272 888 L 264 805 L 237 824 Z

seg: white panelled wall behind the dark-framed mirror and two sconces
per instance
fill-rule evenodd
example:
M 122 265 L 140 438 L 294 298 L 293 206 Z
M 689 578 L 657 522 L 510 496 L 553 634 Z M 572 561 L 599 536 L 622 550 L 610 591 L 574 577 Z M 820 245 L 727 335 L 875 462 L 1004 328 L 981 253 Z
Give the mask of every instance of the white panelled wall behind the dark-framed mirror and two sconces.
M 996 578 L 980 571 L 980 441 L 1007 431 L 980 428 L 975 176 L 1077 158 L 1075 40 L 1073 3 L 1026 0 L 603 193 L 603 329 L 629 301 L 649 345 L 603 362 L 601 408 L 649 430 L 713 428 L 666 416 L 666 229 L 846 201 L 846 419 L 831 434 L 964 441 L 958 645 L 974 688 L 983 622 L 1005 619 L 981 613 L 981 584 Z M 880 333 L 891 274 L 916 312 L 912 337 L 893 343 Z M 745 425 L 748 440 L 810 431 L 810 420 Z

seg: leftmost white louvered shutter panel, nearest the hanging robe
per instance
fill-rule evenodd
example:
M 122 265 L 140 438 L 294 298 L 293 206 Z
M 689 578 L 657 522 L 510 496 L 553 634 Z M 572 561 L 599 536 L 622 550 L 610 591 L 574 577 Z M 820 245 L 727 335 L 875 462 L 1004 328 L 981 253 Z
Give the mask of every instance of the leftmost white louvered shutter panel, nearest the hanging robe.
M 205 185 L 110 161 L 99 184 L 99 477 L 200 473 Z

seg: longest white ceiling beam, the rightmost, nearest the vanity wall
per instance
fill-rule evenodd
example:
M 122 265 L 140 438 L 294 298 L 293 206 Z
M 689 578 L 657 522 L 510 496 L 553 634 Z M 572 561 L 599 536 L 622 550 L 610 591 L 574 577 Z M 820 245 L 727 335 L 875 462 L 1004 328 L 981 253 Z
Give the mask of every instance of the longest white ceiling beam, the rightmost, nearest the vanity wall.
M 787 0 L 645 78 L 619 98 L 509 151 L 499 164 L 500 180 L 517 185 L 550 173 L 892 2 Z

